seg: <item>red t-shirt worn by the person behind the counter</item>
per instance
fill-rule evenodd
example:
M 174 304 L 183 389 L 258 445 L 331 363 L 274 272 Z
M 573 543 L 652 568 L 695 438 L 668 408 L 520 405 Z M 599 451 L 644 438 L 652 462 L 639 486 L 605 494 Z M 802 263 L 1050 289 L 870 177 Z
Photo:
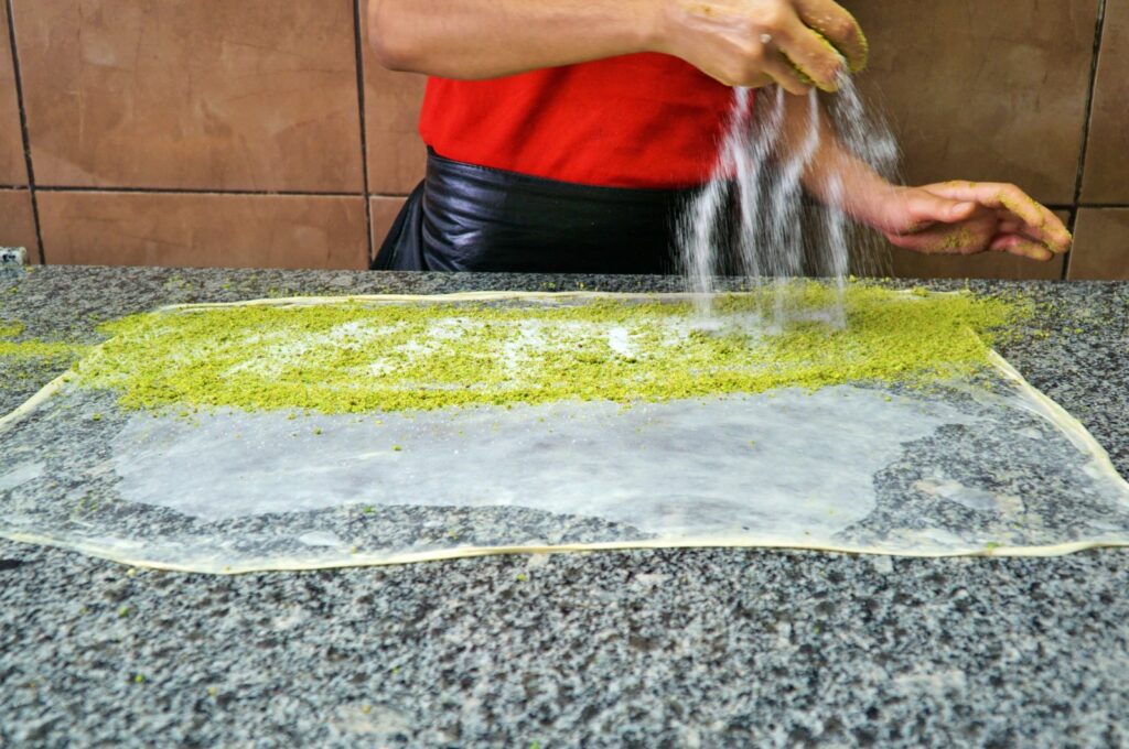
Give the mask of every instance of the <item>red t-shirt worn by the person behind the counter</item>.
M 693 65 L 640 53 L 492 80 L 430 78 L 420 134 L 439 156 L 496 169 L 689 187 L 709 178 L 733 100 Z

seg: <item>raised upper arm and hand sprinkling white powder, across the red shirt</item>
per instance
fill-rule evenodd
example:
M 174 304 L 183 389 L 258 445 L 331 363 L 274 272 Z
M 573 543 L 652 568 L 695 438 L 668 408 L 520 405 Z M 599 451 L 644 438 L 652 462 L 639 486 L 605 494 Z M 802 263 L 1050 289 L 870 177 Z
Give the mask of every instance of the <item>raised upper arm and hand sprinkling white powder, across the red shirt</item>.
M 800 94 L 797 68 L 831 90 L 837 49 L 852 69 L 866 60 L 833 0 L 370 0 L 368 28 L 384 67 L 457 79 L 660 52 L 726 85 Z

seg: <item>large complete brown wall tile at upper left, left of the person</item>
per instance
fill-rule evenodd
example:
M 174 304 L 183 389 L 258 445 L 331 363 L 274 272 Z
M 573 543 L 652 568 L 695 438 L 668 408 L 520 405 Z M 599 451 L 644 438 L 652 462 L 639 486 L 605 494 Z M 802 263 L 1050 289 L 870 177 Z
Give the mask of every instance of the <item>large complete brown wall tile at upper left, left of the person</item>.
M 37 185 L 361 192 L 351 0 L 16 0 Z

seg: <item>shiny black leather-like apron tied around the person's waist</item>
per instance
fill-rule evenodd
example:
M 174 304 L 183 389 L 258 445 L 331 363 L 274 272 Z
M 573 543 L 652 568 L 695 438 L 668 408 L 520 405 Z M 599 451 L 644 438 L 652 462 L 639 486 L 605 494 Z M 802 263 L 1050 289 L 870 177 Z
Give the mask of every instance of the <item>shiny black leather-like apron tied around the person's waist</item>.
M 373 268 L 675 273 L 675 222 L 699 190 L 557 182 L 454 161 L 429 148 L 427 176 Z

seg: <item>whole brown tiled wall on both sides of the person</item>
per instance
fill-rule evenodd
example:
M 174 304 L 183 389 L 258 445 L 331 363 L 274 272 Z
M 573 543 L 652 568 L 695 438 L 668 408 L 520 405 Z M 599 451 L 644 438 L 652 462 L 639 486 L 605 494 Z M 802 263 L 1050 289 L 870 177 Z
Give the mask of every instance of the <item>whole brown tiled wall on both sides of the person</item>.
M 1068 258 L 893 250 L 896 274 L 1129 276 L 1129 0 L 1104 18 L 1101 0 L 842 1 L 910 182 L 1014 182 L 1076 217 Z M 364 267 L 425 164 L 423 78 L 368 53 L 367 3 L 10 0 L 0 244 L 38 233 L 49 263 Z

